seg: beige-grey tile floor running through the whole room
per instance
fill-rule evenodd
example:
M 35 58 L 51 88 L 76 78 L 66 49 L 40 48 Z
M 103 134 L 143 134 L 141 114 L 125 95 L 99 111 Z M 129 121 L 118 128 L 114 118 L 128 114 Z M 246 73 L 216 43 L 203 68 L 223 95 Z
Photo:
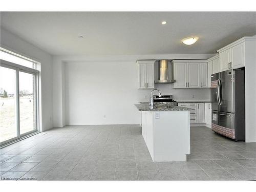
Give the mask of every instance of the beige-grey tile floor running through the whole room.
M 138 125 L 66 126 L 0 149 L 0 178 L 256 180 L 256 143 L 191 127 L 187 162 L 152 162 Z

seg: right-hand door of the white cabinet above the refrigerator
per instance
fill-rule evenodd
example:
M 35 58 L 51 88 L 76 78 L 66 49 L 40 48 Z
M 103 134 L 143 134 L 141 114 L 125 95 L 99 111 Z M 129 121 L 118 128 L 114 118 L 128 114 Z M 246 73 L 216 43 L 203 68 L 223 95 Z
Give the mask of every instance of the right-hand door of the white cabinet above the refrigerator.
M 233 69 L 244 67 L 244 42 L 231 48 L 231 67 Z

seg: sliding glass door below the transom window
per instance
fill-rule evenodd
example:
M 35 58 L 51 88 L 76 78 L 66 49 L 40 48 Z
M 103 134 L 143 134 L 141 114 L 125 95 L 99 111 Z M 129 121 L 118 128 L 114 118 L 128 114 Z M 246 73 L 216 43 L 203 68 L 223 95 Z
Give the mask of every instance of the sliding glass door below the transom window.
M 37 131 L 38 71 L 1 60 L 0 144 Z

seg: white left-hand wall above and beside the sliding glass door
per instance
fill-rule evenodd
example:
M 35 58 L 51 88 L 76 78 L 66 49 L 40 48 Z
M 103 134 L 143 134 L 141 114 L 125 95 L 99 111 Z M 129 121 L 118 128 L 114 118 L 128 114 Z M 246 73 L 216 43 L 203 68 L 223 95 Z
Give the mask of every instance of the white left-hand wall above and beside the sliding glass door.
M 41 63 L 41 117 L 42 131 L 53 127 L 52 56 L 1 28 L 1 47 Z

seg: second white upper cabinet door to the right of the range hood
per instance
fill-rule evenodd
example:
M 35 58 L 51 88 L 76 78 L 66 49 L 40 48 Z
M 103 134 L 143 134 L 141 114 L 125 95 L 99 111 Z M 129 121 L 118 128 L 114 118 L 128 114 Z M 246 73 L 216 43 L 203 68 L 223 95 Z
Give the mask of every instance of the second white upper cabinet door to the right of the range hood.
M 187 63 L 187 84 L 188 88 L 200 88 L 200 63 Z

